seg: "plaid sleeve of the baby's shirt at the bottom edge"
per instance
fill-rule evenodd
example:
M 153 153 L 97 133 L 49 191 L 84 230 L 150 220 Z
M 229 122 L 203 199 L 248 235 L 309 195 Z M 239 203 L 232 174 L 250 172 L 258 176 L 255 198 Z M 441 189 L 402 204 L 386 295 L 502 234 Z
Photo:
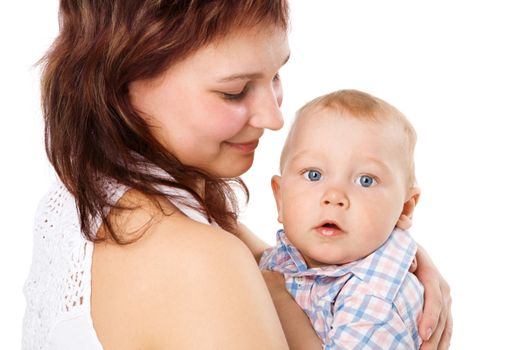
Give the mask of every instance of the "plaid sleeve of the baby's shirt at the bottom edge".
M 372 295 L 346 297 L 334 305 L 324 349 L 417 349 L 395 306 Z

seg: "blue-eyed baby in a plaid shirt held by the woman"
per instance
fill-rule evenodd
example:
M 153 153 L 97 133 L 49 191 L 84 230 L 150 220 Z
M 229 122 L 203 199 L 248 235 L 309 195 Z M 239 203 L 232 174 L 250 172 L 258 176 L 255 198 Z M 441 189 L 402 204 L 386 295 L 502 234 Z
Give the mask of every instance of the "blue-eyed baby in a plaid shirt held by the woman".
M 284 275 L 325 349 L 417 349 L 423 287 L 409 272 L 419 198 L 416 134 L 383 100 L 356 90 L 297 113 L 272 178 L 277 246 L 263 270 Z

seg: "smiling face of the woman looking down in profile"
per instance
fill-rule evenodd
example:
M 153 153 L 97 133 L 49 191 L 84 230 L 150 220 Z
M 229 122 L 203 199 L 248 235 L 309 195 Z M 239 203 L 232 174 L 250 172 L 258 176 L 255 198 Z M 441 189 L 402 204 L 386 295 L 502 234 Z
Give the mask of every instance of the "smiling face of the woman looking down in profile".
M 252 165 L 264 129 L 283 125 L 278 71 L 288 57 L 284 30 L 237 31 L 157 78 L 131 83 L 131 102 L 182 163 L 239 176 Z

